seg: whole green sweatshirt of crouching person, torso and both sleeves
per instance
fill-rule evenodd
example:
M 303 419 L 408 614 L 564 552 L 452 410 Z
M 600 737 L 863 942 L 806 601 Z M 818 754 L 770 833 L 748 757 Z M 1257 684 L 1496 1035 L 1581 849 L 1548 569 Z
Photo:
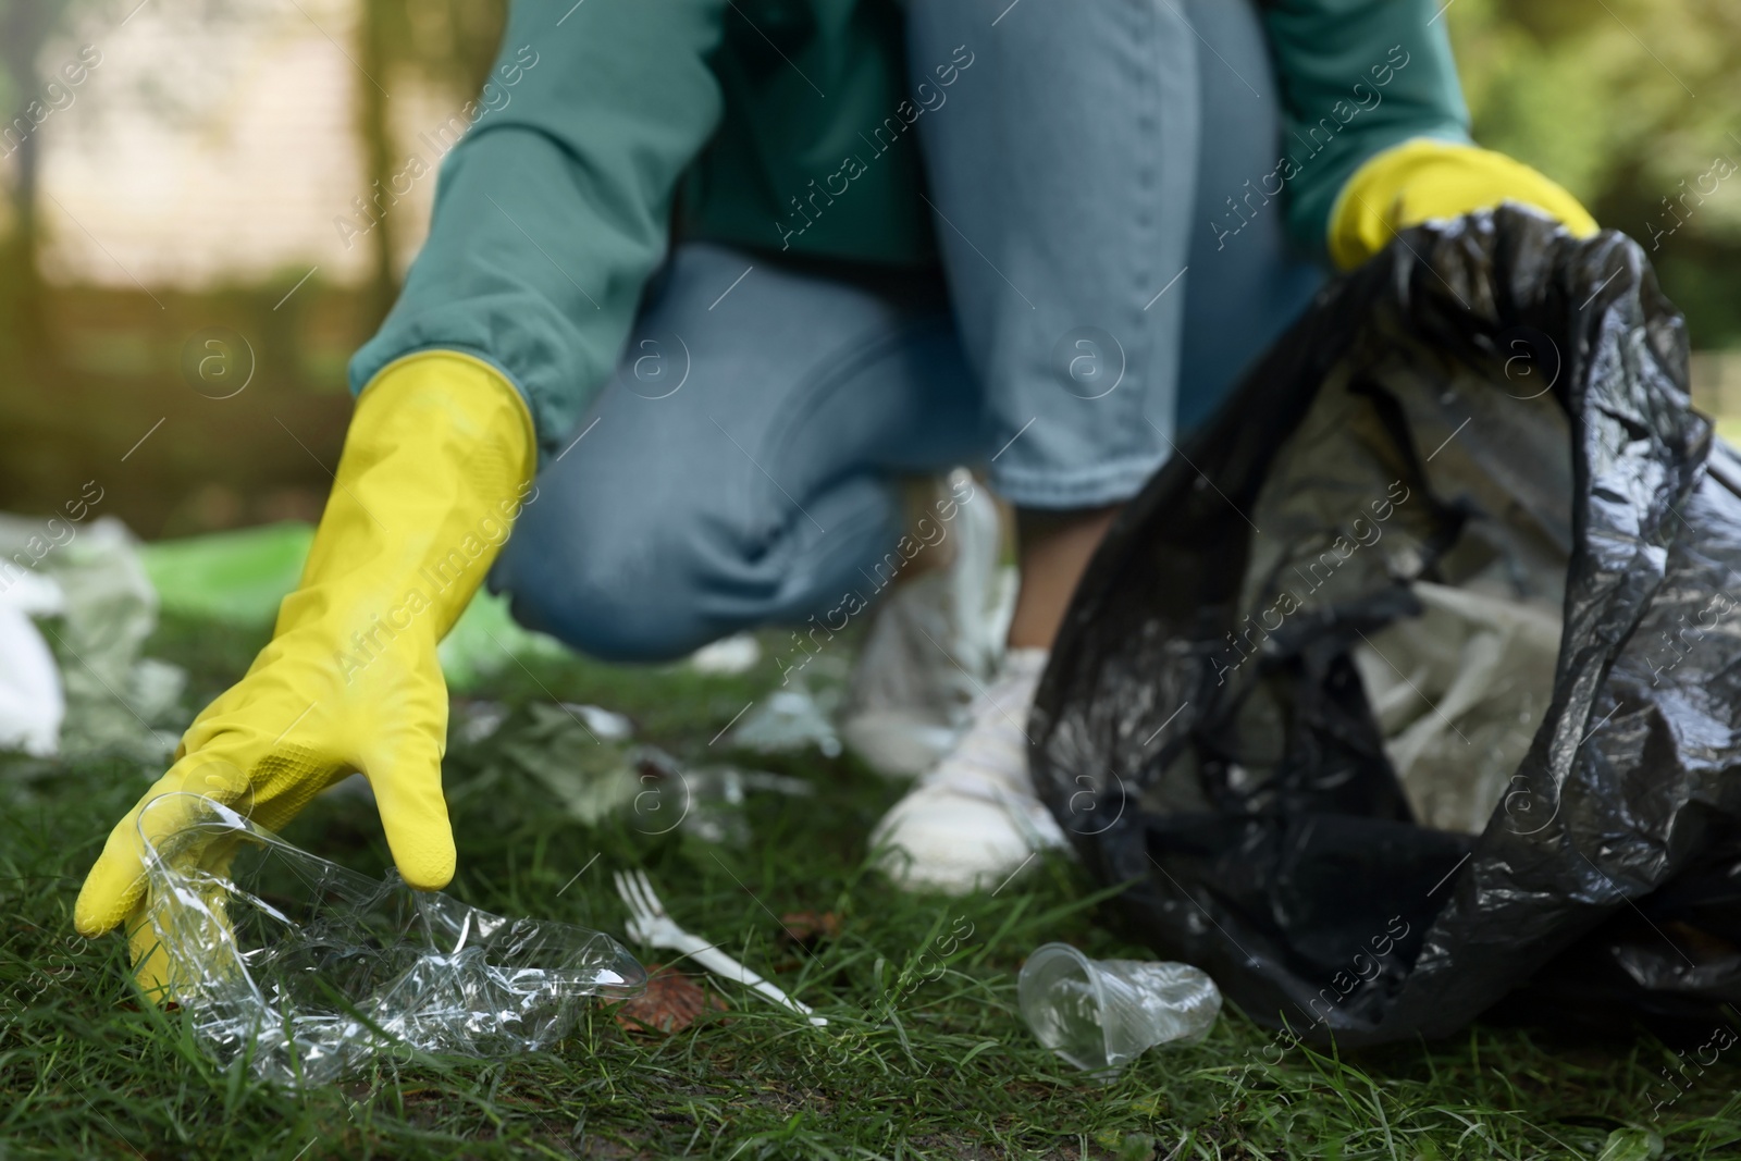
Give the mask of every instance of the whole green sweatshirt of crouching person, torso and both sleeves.
M 1262 12 L 1287 129 L 1260 185 L 1287 190 L 1290 228 L 1321 251 L 1363 160 L 1464 139 L 1468 115 L 1429 0 Z M 615 372 L 674 225 L 756 251 L 935 261 L 912 127 L 973 84 L 973 45 L 909 77 L 902 23 L 897 0 L 515 0 L 479 101 L 374 193 L 371 214 L 392 212 L 444 158 L 428 242 L 352 390 L 413 352 L 465 352 L 521 390 L 552 454 Z M 359 216 L 350 235 L 367 228 Z

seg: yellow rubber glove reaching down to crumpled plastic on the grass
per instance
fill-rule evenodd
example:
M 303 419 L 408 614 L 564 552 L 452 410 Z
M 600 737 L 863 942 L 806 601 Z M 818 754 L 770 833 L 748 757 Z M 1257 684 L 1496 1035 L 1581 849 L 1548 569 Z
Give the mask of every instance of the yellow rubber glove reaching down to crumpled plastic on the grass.
M 141 985 L 167 983 L 143 923 L 136 825 L 160 794 L 193 790 L 279 829 L 362 771 L 406 882 L 447 884 L 447 684 L 435 644 L 507 540 L 534 463 L 524 400 L 475 359 L 413 355 L 362 392 L 301 587 L 279 607 L 272 644 L 193 721 L 174 766 L 110 832 L 78 893 L 73 921 L 85 936 L 129 919 Z M 167 834 L 181 813 L 158 808 L 146 827 Z

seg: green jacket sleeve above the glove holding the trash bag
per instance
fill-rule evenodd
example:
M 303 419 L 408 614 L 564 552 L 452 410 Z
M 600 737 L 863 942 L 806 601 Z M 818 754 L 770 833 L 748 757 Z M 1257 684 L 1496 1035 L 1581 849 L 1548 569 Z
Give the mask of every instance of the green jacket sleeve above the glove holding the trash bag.
M 1442 0 L 1269 0 L 1288 230 L 1323 252 L 1330 207 L 1360 165 L 1410 138 L 1469 139 Z M 1274 195 L 1274 188 L 1266 193 Z

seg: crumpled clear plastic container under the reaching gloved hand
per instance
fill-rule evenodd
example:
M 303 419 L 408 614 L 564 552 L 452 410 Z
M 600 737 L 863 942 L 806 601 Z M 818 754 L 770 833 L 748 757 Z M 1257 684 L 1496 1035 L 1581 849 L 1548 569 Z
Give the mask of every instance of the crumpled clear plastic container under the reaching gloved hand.
M 507 1057 L 562 1037 L 588 996 L 641 992 L 616 940 L 507 919 L 346 870 L 233 809 L 169 794 L 139 815 L 167 999 L 223 1064 L 289 1086 L 395 1050 Z

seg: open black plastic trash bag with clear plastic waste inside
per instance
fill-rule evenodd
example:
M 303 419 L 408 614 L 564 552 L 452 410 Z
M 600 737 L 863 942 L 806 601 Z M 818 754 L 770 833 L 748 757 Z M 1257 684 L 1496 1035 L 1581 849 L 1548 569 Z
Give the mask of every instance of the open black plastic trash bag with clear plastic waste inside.
M 1039 686 L 1041 795 L 1262 1022 L 1440 1036 L 1530 989 L 1708 1029 L 1741 999 L 1738 493 L 1635 242 L 1410 230 L 1119 517 Z

